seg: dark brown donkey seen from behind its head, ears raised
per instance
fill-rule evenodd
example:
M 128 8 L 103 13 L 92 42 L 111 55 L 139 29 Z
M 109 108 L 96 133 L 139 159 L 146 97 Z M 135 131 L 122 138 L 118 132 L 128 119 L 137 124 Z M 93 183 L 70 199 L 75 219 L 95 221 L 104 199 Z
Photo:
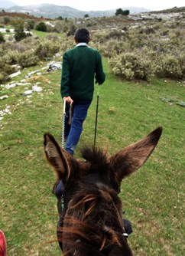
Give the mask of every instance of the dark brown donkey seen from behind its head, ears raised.
M 83 149 L 85 161 L 70 156 L 49 133 L 44 135 L 47 160 L 57 174 L 57 183 L 62 180 L 64 188 L 60 227 L 63 255 L 132 255 L 118 192 L 122 179 L 135 172 L 151 155 L 161 132 L 159 127 L 111 157 L 101 149 Z

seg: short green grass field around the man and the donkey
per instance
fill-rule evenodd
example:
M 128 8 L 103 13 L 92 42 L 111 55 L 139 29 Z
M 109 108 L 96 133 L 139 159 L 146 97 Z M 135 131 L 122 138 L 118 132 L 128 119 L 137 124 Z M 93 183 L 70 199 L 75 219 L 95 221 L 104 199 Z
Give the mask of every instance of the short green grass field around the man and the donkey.
M 129 244 L 135 255 L 184 255 L 185 101 L 183 82 L 117 80 L 104 60 L 105 84 L 100 87 L 97 146 L 112 155 L 163 126 L 161 139 L 148 162 L 122 182 L 124 218 L 134 232 Z M 29 70 L 30 71 L 30 70 Z M 24 71 L 25 72 L 25 71 Z M 16 80 L 24 78 L 22 73 Z M 56 238 L 57 205 L 51 193 L 54 175 L 44 157 L 43 135 L 61 140 L 60 71 L 32 77 L 40 94 L 23 96 L 23 87 L 2 89 L 0 228 L 8 256 L 60 255 Z M 28 85 L 28 89 L 31 87 Z M 94 139 L 96 92 L 76 149 Z

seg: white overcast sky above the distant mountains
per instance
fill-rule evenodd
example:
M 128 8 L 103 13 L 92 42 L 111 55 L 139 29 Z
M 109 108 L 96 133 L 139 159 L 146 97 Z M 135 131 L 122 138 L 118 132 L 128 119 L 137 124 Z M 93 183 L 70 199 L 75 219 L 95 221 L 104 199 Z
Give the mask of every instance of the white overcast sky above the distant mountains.
M 144 7 L 152 11 L 173 8 L 174 6 L 185 6 L 184 0 L 10 0 L 18 5 L 40 5 L 40 4 L 54 4 L 66 5 L 76 8 L 80 11 L 105 11 L 124 7 Z M 1 0 L 0 0 L 1 2 Z

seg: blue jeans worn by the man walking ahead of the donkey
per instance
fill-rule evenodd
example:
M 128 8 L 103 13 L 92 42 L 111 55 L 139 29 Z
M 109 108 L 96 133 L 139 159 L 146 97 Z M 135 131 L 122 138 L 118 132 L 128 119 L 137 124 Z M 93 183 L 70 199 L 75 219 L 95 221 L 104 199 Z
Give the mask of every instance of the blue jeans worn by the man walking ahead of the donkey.
M 64 136 L 67 138 L 65 149 L 72 155 L 83 131 L 83 121 L 86 119 L 87 110 L 89 109 L 90 104 L 91 100 L 73 102 L 71 125 L 68 124 L 70 117 L 70 104 L 67 104 L 64 131 Z

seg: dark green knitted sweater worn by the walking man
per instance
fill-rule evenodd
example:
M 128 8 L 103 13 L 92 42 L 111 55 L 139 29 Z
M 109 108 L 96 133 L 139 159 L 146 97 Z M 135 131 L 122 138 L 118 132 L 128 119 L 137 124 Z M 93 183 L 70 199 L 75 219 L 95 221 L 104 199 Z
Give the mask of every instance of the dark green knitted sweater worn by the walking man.
M 87 45 L 76 46 L 63 54 L 60 93 L 73 100 L 92 100 L 94 78 L 98 84 L 105 81 L 102 57 L 99 51 Z

